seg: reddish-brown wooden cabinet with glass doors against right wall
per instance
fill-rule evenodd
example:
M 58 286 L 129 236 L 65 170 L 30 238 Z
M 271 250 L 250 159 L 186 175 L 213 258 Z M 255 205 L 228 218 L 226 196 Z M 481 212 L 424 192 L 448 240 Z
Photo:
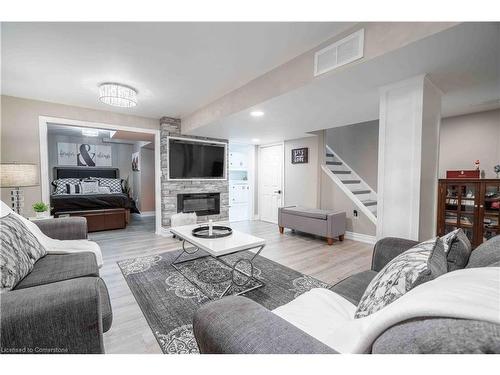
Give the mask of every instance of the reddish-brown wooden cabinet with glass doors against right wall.
M 500 179 L 441 179 L 437 232 L 462 228 L 473 248 L 500 234 Z

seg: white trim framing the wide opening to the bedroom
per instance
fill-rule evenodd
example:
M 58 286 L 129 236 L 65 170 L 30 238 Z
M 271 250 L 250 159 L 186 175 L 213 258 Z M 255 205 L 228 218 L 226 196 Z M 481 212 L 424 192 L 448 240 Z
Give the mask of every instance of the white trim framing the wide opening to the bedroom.
M 146 133 L 154 135 L 155 143 L 155 233 L 165 235 L 161 226 L 161 168 L 160 168 L 160 129 L 145 129 L 133 126 L 112 125 L 101 122 L 71 120 L 60 117 L 38 116 L 40 135 L 40 185 L 42 189 L 42 200 L 50 200 L 49 182 L 49 154 L 47 139 L 47 124 L 58 124 L 68 126 L 78 126 L 84 128 L 98 128 L 109 130 L 124 130 L 136 133 Z

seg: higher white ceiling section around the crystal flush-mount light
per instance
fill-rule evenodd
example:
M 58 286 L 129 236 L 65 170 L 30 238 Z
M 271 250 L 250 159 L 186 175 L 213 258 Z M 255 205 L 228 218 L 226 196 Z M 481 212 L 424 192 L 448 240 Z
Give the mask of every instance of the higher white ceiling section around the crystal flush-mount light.
M 3 23 L 2 93 L 146 117 L 188 115 L 352 23 Z M 97 86 L 139 91 L 119 109 Z

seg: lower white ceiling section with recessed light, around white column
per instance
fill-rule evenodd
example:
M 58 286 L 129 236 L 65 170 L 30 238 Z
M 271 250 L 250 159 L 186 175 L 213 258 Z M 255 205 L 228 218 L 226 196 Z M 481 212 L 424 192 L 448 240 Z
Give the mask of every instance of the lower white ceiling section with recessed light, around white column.
M 397 51 L 196 129 L 197 135 L 258 143 L 378 119 L 381 86 L 429 74 L 443 91 L 443 117 L 500 107 L 500 24 L 461 24 Z M 263 117 L 249 112 L 259 109 Z M 500 126 L 500 123 L 499 123 Z

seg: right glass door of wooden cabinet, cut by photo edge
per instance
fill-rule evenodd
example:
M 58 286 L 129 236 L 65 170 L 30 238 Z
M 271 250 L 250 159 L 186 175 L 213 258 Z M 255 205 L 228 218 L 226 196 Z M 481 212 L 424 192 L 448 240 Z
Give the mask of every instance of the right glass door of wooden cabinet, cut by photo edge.
M 485 182 L 484 201 L 480 202 L 483 210 L 482 242 L 500 234 L 500 181 Z

